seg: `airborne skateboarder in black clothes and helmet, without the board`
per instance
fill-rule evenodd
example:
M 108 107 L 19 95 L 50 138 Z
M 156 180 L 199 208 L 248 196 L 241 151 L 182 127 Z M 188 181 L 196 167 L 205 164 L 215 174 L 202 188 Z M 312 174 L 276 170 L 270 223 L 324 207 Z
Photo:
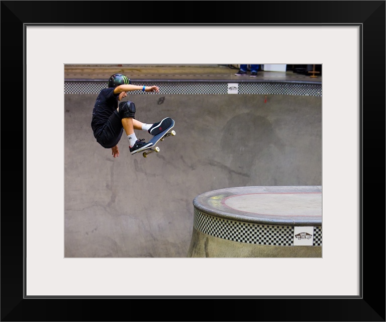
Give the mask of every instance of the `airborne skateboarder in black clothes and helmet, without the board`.
M 123 130 L 129 140 L 130 153 L 134 154 L 153 145 L 145 139 L 137 139 L 134 130 L 148 131 L 157 135 L 171 124 L 166 117 L 153 124 L 142 123 L 135 119 L 135 104 L 131 101 L 120 102 L 127 96 L 126 92 L 142 90 L 159 93 L 157 86 L 132 85 L 128 77 L 114 74 L 109 78 L 108 88 L 101 90 L 92 110 L 91 128 L 96 141 L 105 148 L 112 149 L 114 157 L 119 156 L 118 142 Z

